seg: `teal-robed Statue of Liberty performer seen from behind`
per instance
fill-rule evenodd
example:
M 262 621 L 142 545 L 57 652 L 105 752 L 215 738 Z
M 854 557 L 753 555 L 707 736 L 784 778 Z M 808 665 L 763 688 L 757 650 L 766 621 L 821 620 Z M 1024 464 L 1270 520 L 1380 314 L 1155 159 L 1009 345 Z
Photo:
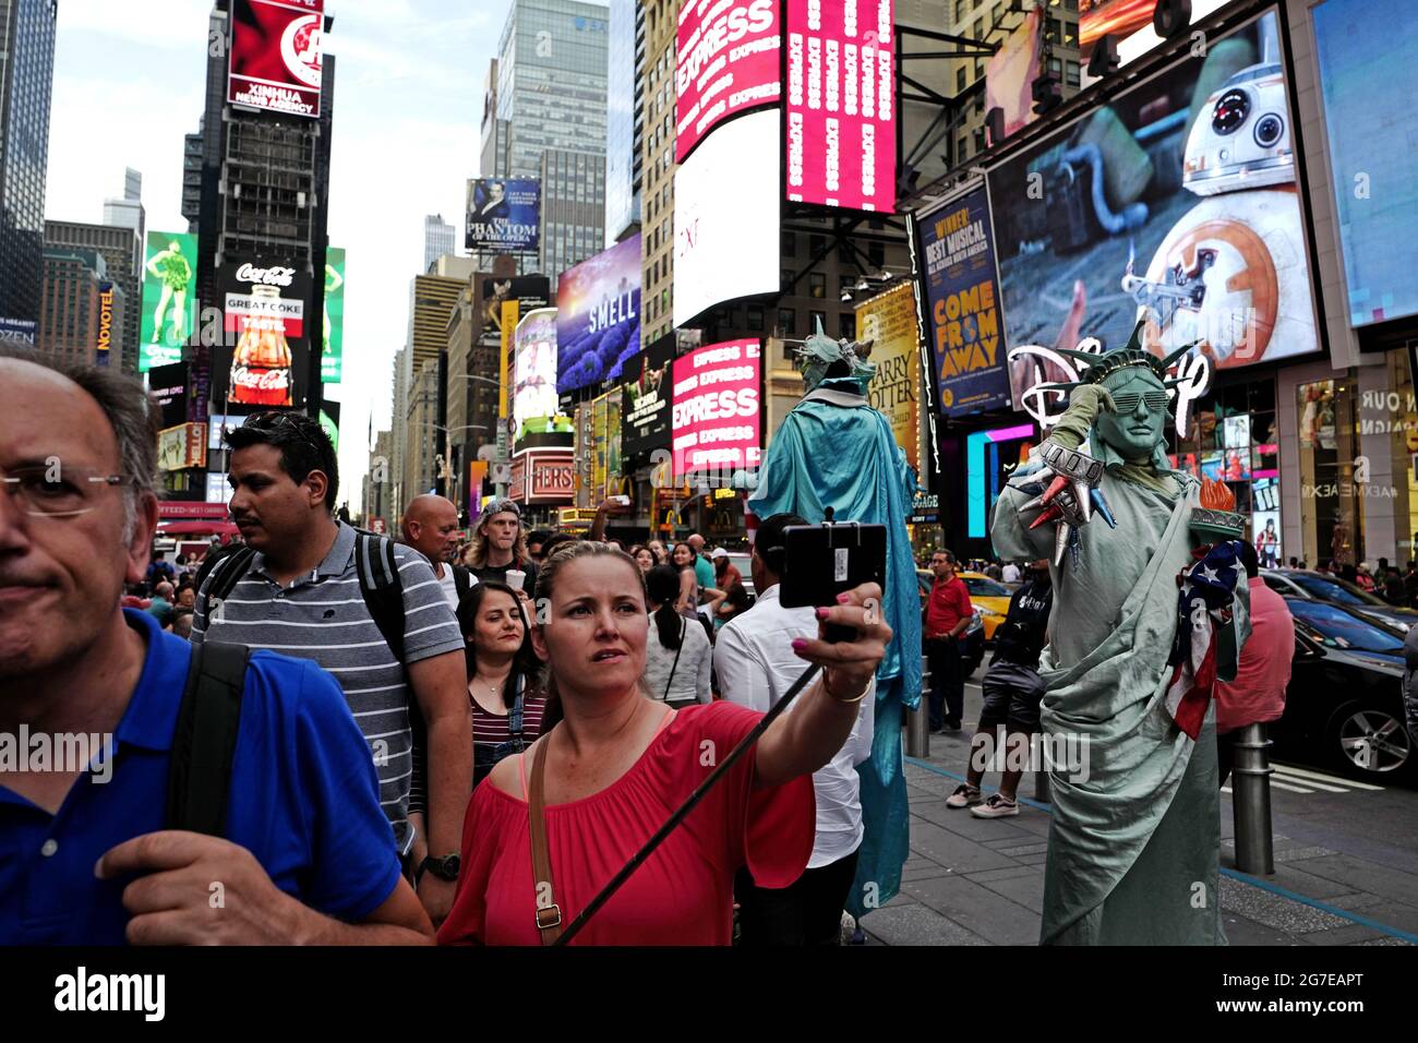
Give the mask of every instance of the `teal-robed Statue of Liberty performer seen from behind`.
M 862 917 L 900 888 L 909 849 L 910 810 L 900 759 L 902 708 L 920 701 L 920 595 L 906 518 L 916 475 L 892 436 L 891 423 L 866 402 L 876 368 L 862 356 L 869 345 L 832 341 L 817 331 L 798 349 L 807 394 L 769 443 L 749 509 L 760 518 L 791 512 L 821 522 L 888 526 L 883 613 L 895 633 L 876 670 L 872 755 L 861 779 L 862 846 L 847 910 Z

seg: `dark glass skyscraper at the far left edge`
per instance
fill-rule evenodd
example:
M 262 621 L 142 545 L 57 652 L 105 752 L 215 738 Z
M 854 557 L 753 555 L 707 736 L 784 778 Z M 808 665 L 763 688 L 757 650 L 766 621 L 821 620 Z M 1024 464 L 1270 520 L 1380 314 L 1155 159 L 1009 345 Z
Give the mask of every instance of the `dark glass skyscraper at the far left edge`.
M 0 336 L 33 341 L 44 281 L 55 0 L 0 0 Z

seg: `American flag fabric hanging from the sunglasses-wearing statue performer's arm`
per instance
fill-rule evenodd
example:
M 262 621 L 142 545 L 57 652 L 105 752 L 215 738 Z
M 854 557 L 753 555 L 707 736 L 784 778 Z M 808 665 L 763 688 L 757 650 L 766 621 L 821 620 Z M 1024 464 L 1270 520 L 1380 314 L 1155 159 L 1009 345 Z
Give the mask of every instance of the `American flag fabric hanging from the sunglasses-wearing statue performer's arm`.
M 1167 666 L 1167 714 L 1193 741 L 1211 705 L 1217 684 L 1217 624 L 1231 624 L 1231 597 L 1245 575 L 1238 552 L 1241 542 L 1228 539 L 1193 552 L 1195 562 L 1177 575 L 1177 636 Z

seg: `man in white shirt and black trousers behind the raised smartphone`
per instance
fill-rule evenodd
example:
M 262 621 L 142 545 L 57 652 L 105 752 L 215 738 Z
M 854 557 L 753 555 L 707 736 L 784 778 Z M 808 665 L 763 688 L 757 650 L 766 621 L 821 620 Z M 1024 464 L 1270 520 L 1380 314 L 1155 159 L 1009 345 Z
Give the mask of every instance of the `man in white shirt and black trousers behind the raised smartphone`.
M 797 637 L 817 637 L 813 609 L 784 609 L 778 602 L 783 570 L 783 529 L 807 525 L 791 514 L 776 514 L 759 525 L 749 566 L 757 603 L 723 624 L 713 664 L 719 691 L 730 702 L 767 712 L 803 673 L 793 653 Z M 847 744 L 813 773 L 817 796 L 817 839 L 807 870 L 791 887 L 761 888 L 749 871 L 735 880 L 743 945 L 837 945 L 842 907 L 856 878 L 856 850 L 862 843 L 862 803 L 856 765 L 871 756 L 875 684 L 861 701 Z M 797 708 L 794 702 L 787 712 Z

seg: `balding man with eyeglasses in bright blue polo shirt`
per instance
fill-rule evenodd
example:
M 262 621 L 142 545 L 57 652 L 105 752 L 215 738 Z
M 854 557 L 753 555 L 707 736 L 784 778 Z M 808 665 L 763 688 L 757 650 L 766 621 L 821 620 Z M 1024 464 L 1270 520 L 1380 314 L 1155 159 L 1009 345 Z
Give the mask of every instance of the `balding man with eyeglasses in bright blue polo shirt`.
M 309 663 L 251 654 L 221 836 L 169 829 L 191 651 L 119 605 L 157 528 L 156 434 L 130 377 L 0 353 L 0 739 L 102 738 L 0 762 L 0 945 L 431 939 L 369 748 Z

